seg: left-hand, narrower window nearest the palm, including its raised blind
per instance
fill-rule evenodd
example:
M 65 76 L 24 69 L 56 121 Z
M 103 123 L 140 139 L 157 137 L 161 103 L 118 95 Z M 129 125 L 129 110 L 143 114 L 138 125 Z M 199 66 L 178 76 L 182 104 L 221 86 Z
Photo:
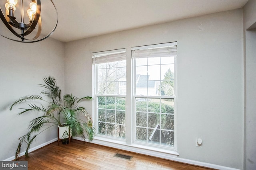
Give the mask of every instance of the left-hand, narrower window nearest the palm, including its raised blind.
M 126 50 L 93 53 L 97 133 L 120 139 L 126 135 Z

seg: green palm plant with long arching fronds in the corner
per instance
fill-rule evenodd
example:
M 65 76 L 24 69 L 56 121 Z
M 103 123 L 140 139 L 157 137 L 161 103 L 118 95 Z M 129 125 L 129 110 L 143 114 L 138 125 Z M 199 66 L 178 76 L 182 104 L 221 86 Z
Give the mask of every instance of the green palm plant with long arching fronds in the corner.
M 56 85 L 56 80 L 51 76 L 45 77 L 43 80 L 44 84 L 39 84 L 44 88 L 40 93 L 41 95 L 24 96 L 14 101 L 10 106 L 10 110 L 12 110 L 13 106 L 26 103 L 28 108 L 22 108 L 22 111 L 18 113 L 19 115 L 28 112 L 34 113 L 35 111 L 43 113 L 30 121 L 28 133 L 19 138 L 20 143 L 16 150 L 16 159 L 19 157 L 23 143 L 27 144 L 25 155 L 28 156 L 28 150 L 36 136 L 54 125 L 63 126 L 63 124 L 65 124 L 65 126 L 70 127 L 70 132 L 73 136 L 81 135 L 84 140 L 86 139 L 84 132 L 88 134 L 89 141 L 92 141 L 95 135 L 95 129 L 92 126 L 92 118 L 84 107 L 78 105 L 82 100 L 91 100 L 92 97 L 77 98 L 72 94 L 66 94 L 63 96 L 62 100 L 61 90 L 60 87 Z M 48 100 L 44 99 L 42 95 L 48 98 Z M 42 103 L 36 105 L 28 103 L 30 101 L 41 101 Z M 48 106 L 45 106 L 46 104 Z M 80 119 L 78 113 L 82 113 L 87 121 Z M 43 128 L 44 125 L 46 125 L 45 128 Z M 37 134 L 34 135 L 34 133 Z

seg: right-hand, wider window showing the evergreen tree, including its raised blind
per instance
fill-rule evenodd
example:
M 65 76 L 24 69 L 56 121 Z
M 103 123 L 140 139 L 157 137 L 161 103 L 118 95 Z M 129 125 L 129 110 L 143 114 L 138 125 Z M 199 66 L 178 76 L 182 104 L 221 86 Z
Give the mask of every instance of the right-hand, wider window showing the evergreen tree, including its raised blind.
M 137 143 L 175 148 L 176 55 L 176 43 L 132 48 Z

